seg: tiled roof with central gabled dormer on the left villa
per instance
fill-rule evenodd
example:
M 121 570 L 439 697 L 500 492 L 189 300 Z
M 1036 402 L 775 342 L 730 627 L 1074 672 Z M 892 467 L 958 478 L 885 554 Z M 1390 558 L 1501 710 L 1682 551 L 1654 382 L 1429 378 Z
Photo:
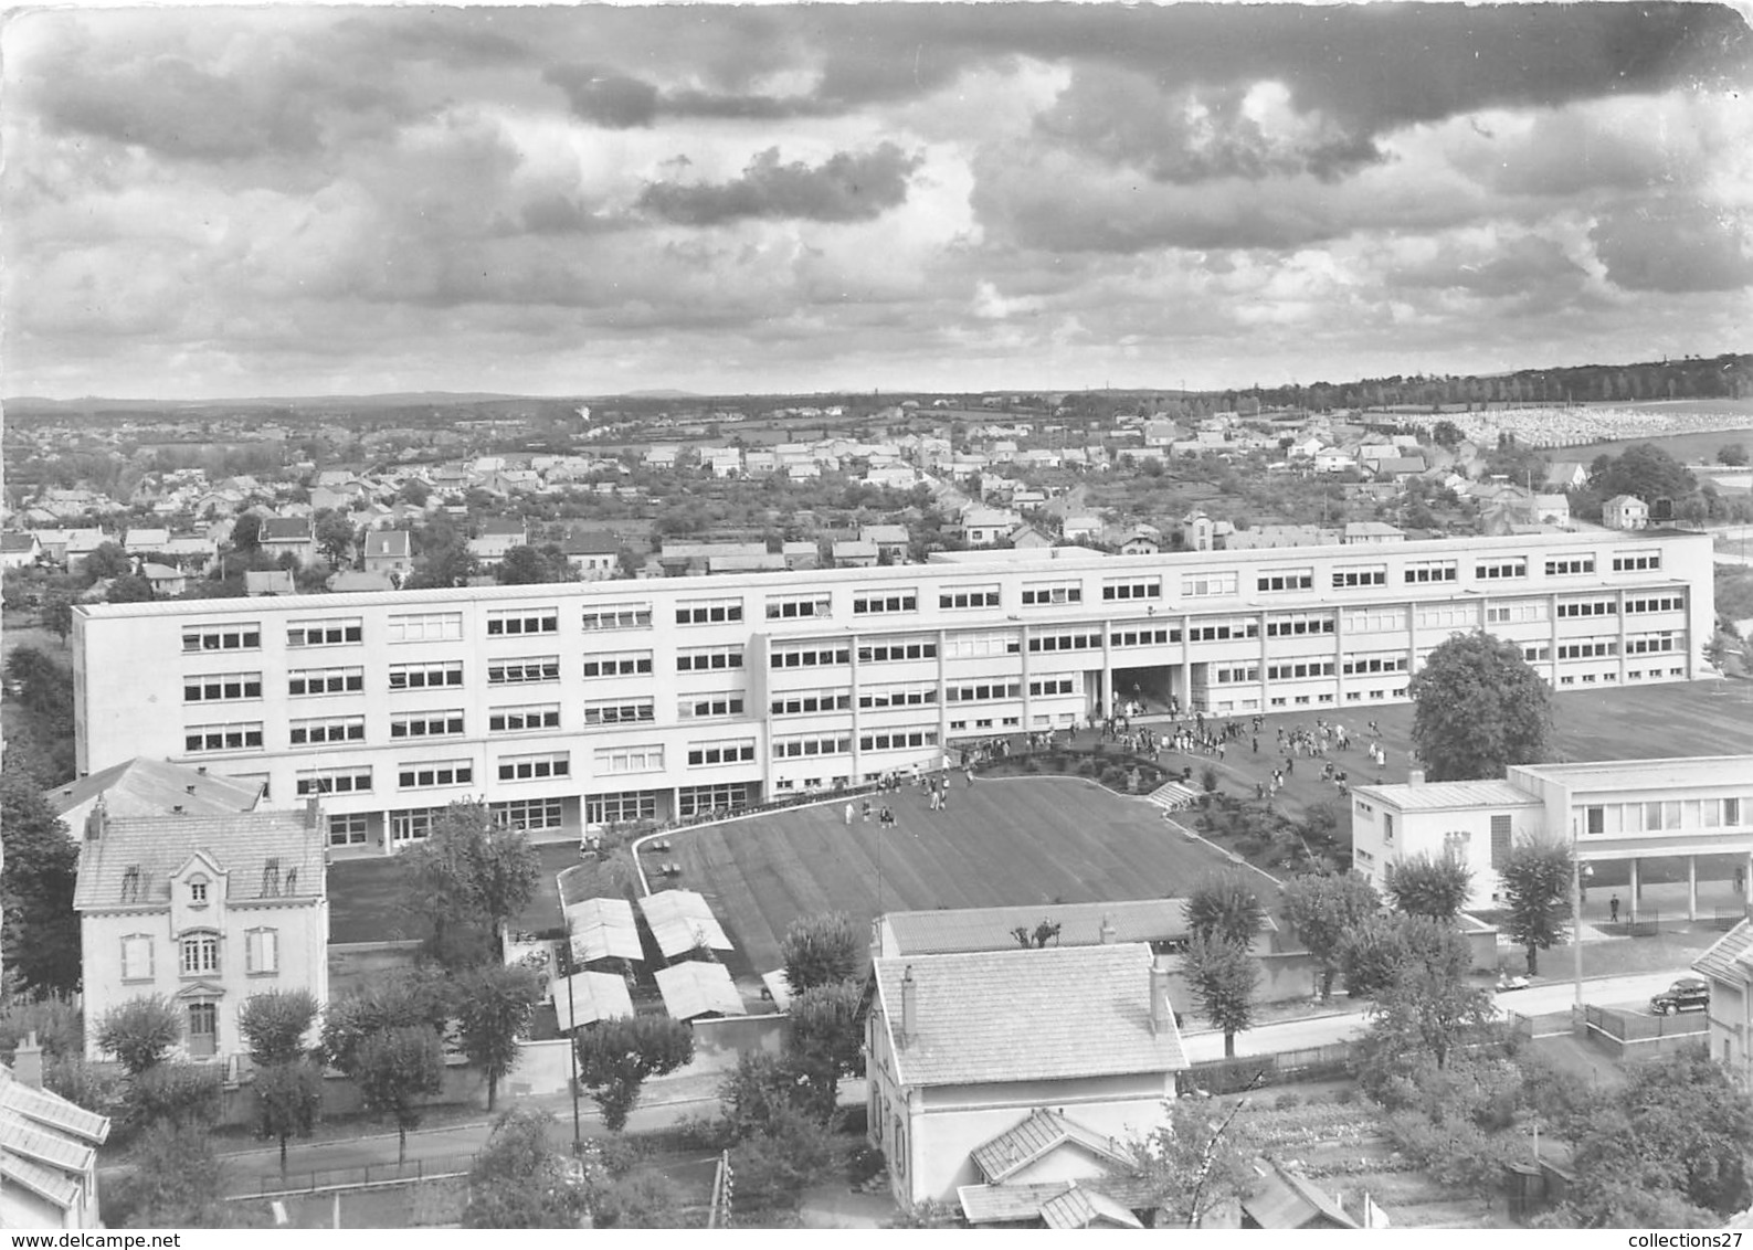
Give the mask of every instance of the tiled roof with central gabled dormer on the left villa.
M 323 840 L 321 827 L 305 827 L 303 812 L 114 817 L 81 843 L 74 906 L 165 906 L 170 877 L 198 850 L 226 871 L 230 903 L 323 898 Z

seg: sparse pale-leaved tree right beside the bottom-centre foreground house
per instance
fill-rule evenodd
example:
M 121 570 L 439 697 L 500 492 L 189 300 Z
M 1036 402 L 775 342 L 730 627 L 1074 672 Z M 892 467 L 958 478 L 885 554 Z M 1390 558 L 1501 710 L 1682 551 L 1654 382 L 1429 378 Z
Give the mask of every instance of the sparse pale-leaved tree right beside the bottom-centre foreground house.
M 1253 1145 L 1236 1126 L 1248 1099 L 1227 1113 L 1213 1103 L 1176 1099 L 1167 1120 L 1132 1143 L 1134 1176 L 1150 1183 L 1152 1206 L 1185 1229 L 1197 1229 L 1220 1206 L 1246 1197 L 1257 1176 Z

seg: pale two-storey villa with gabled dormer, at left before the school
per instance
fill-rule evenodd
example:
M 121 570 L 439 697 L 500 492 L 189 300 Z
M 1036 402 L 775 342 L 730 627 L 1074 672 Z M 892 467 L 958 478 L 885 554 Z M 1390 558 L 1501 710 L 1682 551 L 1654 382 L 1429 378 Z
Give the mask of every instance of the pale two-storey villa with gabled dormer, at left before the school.
M 86 1012 L 161 994 L 182 1019 L 177 1050 L 202 1061 L 247 1050 L 237 1013 L 252 994 L 303 989 L 326 1003 L 326 838 L 314 798 L 230 815 L 112 817 L 95 805 L 74 887 Z M 100 1054 L 93 1029 L 86 1057 Z

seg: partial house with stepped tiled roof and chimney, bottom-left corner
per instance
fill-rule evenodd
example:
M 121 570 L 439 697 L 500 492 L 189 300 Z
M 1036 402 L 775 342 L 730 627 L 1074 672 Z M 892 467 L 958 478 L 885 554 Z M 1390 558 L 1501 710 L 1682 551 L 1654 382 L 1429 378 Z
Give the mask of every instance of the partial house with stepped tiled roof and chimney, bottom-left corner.
M 98 1147 L 109 1119 L 42 1087 L 28 1034 L 0 1066 L 0 1229 L 102 1229 Z

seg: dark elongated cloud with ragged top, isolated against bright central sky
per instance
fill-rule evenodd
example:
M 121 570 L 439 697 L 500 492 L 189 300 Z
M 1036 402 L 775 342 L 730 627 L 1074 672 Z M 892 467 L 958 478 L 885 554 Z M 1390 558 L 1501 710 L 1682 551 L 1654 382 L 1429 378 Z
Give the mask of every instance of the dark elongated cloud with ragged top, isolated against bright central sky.
M 731 182 L 652 182 L 638 207 L 654 217 L 687 226 L 712 226 L 738 217 L 805 217 L 869 221 L 906 200 L 908 177 L 920 165 L 896 144 L 869 153 L 836 153 L 822 165 L 780 165 L 778 149 L 759 153 Z

